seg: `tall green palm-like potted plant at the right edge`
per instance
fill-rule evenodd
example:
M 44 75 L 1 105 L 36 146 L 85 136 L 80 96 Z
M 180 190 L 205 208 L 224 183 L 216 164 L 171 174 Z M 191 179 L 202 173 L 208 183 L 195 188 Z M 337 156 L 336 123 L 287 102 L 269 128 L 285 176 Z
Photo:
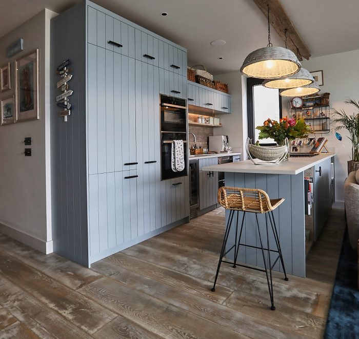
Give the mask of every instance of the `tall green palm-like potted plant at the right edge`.
M 340 111 L 333 109 L 333 124 L 335 130 L 346 129 L 349 132 L 348 138 L 351 141 L 351 159 L 348 161 L 349 174 L 359 169 L 359 102 L 352 99 L 344 102 L 354 106 L 356 112 L 347 115 L 343 109 Z

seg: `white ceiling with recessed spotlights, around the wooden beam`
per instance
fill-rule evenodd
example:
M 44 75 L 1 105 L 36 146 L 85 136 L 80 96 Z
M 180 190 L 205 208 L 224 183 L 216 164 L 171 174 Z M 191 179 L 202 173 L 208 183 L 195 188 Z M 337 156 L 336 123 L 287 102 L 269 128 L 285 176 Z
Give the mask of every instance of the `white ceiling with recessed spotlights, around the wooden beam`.
M 0 0 L 0 36 L 44 8 L 61 13 L 80 0 Z M 239 70 L 252 50 L 267 45 L 267 23 L 252 0 L 95 0 L 188 50 L 188 64 L 214 74 Z M 312 56 L 359 49 L 358 0 L 281 0 Z M 298 6 L 300 5 L 300 6 Z M 168 16 L 161 16 L 168 12 Z M 35 33 L 35 32 L 34 32 Z M 274 46 L 283 46 L 274 29 Z M 222 47 L 210 45 L 222 39 Z M 217 58 L 222 57 L 223 60 Z

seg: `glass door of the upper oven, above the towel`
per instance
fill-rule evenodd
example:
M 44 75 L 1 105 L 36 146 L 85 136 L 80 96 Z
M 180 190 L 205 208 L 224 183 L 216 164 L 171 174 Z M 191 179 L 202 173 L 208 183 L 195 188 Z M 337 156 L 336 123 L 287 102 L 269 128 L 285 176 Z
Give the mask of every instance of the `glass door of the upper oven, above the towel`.
M 186 108 L 161 106 L 161 130 L 167 132 L 186 132 Z

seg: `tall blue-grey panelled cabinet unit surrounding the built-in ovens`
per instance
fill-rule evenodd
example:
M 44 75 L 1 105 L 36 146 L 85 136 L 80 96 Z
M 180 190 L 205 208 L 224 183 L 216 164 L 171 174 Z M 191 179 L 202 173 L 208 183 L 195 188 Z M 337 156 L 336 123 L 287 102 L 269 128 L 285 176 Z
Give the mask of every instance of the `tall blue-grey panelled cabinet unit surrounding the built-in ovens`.
M 188 177 L 161 181 L 159 93 L 187 98 L 186 50 L 91 2 L 51 23 L 70 60 L 68 122 L 52 103 L 55 252 L 89 266 L 188 220 Z

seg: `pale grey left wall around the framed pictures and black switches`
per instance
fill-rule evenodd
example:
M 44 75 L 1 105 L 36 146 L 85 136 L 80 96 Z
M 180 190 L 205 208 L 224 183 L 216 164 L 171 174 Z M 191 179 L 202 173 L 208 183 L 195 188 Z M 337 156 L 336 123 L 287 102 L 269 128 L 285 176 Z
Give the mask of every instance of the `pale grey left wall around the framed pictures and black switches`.
M 52 252 L 50 190 L 49 52 L 50 18 L 43 10 L 0 39 L 0 66 L 11 63 L 11 89 L 15 93 L 14 60 L 39 49 L 39 120 L 0 126 L 0 231 L 30 246 Z M 8 59 L 6 48 L 24 39 L 24 51 Z M 32 138 L 32 157 L 24 156 L 24 138 Z

